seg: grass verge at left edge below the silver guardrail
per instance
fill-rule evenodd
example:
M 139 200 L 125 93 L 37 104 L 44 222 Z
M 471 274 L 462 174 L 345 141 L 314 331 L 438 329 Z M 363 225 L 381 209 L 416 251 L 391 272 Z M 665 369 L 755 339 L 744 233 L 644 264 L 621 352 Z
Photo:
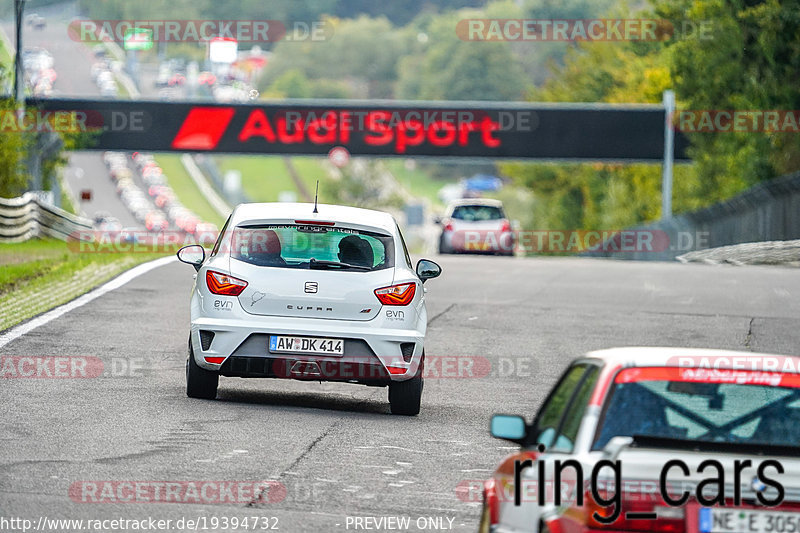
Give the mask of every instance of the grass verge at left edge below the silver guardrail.
M 51 239 L 0 244 L 0 331 L 159 257 L 163 254 L 76 253 Z

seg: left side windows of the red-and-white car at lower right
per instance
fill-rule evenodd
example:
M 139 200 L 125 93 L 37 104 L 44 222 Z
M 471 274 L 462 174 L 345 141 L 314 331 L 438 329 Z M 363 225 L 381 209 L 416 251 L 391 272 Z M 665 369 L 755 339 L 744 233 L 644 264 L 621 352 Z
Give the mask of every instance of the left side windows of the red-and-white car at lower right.
M 574 365 L 567 370 L 536 415 L 534 426 L 528 432 L 529 442 L 544 444 L 547 449 L 557 451 L 569 451 L 572 449 L 572 446 L 564 442 L 563 439 L 562 442 L 558 442 L 556 436 L 559 434 L 561 421 L 570 407 L 570 400 L 582 385 L 581 380 L 586 374 L 587 366 L 587 364 L 582 363 Z

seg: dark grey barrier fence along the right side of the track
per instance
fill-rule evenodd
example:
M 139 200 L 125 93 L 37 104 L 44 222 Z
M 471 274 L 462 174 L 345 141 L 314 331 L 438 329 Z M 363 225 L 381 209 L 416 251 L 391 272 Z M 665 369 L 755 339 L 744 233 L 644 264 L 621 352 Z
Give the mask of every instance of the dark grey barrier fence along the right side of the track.
M 800 239 L 800 172 L 759 183 L 724 202 L 632 228 L 664 232 L 661 251 L 587 252 L 586 256 L 671 261 L 693 252 L 733 244 Z

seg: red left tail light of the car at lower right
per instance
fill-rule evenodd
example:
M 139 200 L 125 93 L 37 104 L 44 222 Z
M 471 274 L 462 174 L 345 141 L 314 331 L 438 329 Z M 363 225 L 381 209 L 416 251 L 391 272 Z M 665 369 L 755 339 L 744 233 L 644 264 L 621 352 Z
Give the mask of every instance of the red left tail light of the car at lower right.
M 613 490 L 603 494 L 603 498 L 613 500 Z M 602 492 L 601 492 L 602 494 Z M 584 512 L 586 525 L 590 529 L 612 529 L 614 531 L 647 531 L 655 533 L 685 533 L 686 518 L 683 507 L 668 506 L 660 496 L 651 492 L 624 491 L 622 494 L 622 511 L 619 517 L 610 524 L 596 520 L 594 513 L 600 517 L 614 515 L 614 504 L 602 506 L 594 501 L 591 491 L 584 495 Z M 653 519 L 655 514 L 657 519 Z

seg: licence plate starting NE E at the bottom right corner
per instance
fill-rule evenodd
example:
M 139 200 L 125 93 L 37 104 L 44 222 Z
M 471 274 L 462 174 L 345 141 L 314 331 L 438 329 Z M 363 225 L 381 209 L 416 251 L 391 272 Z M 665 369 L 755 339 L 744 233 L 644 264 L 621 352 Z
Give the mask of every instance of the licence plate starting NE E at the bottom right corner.
M 800 513 L 700 509 L 700 533 L 800 533 Z

